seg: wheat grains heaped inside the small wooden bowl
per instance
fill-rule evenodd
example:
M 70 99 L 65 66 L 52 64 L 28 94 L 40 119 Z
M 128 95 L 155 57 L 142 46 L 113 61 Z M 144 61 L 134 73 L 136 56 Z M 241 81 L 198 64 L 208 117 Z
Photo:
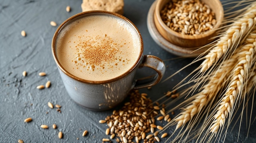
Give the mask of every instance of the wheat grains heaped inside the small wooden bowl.
M 184 35 L 199 35 L 213 29 L 215 13 L 200 0 L 171 0 L 160 11 L 163 22 Z

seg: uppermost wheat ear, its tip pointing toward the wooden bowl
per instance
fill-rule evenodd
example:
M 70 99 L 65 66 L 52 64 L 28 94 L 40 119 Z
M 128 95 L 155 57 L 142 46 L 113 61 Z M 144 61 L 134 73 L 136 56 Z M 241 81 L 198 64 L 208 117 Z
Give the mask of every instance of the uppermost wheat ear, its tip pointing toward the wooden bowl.
M 203 57 L 204 61 L 200 65 L 200 72 L 209 69 L 220 57 L 235 48 L 236 46 L 234 44 L 254 26 L 256 23 L 256 2 L 253 2 L 249 6 L 249 9 L 243 14 L 242 18 L 236 19 L 212 47 L 212 50 Z

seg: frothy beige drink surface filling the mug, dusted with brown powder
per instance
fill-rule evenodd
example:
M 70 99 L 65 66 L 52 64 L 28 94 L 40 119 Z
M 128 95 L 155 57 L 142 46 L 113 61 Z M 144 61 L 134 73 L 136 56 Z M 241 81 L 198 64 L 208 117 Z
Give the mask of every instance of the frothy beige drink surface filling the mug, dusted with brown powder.
M 140 38 L 132 26 L 108 15 L 91 15 L 65 26 L 56 53 L 72 75 L 90 81 L 115 78 L 139 57 Z

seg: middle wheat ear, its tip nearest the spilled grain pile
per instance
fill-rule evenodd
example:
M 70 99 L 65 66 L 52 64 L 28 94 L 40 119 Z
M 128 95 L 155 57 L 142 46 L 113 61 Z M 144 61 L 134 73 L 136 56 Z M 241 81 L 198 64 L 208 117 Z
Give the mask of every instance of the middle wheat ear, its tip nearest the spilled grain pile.
M 227 74 L 231 72 L 235 63 L 236 58 L 230 58 L 224 61 L 222 66 L 216 70 L 216 73 L 209 78 L 211 80 L 202 87 L 202 91 L 191 97 L 194 98 L 191 103 L 183 109 L 177 118 L 173 119 L 173 121 L 177 122 L 175 130 L 193 118 L 193 116 L 208 105 L 210 101 L 213 101 L 218 91 L 224 86 L 223 83 L 227 79 Z M 184 102 L 187 102 L 187 100 Z

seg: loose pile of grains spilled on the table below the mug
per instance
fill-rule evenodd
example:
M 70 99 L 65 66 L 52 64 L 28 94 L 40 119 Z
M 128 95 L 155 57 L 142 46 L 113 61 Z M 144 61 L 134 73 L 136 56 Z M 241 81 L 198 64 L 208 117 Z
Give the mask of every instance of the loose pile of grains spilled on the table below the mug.
M 130 93 L 130 102 L 124 103 L 120 110 L 114 110 L 111 116 L 107 116 L 105 120 L 100 120 L 99 123 L 107 123 L 106 135 L 110 135 L 110 139 L 116 138 L 118 143 L 136 143 L 143 141 L 143 143 L 159 142 L 157 136 L 159 130 L 163 128 L 155 124 L 155 117 L 157 120 L 164 119 L 171 121 L 168 114 L 165 114 L 164 108 L 153 106 L 153 103 L 148 99 L 147 94 L 139 93 L 138 90 Z M 162 134 L 162 138 L 166 137 L 167 133 Z M 110 139 L 103 139 L 102 141 L 110 141 Z

